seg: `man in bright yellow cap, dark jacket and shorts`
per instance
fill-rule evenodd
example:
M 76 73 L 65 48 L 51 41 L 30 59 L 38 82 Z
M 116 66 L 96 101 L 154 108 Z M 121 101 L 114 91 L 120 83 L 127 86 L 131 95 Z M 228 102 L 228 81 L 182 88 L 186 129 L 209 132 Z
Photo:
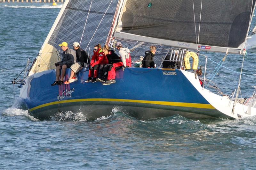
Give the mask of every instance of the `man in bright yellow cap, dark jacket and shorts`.
M 56 66 L 56 80 L 52 83 L 52 85 L 61 85 L 63 83 L 63 79 L 66 73 L 66 69 L 70 68 L 70 66 L 76 63 L 76 52 L 73 49 L 68 48 L 67 42 L 62 42 L 59 44 L 62 49 L 62 61 L 55 63 Z M 60 77 L 60 69 L 61 69 L 61 77 Z

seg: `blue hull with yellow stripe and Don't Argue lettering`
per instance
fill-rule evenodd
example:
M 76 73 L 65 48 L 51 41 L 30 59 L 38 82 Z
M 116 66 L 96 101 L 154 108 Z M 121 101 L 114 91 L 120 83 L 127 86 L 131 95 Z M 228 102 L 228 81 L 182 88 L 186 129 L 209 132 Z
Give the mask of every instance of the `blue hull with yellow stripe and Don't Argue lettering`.
M 67 79 L 70 70 L 66 71 Z M 26 78 L 20 97 L 38 119 L 60 113 L 82 112 L 88 119 L 110 115 L 112 109 L 140 120 L 180 114 L 188 118 L 223 117 L 205 100 L 180 70 L 126 68 L 116 71 L 116 83 L 84 83 L 88 71 L 78 74 L 78 81 L 51 86 L 55 70 Z M 198 82 L 199 83 L 199 82 Z M 224 118 L 227 118 L 224 116 Z

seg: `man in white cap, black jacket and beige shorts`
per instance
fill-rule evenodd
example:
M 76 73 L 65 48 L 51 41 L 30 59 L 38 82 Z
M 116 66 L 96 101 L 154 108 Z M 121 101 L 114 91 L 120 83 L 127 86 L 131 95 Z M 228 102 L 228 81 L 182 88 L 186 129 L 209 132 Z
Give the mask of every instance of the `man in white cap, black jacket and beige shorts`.
M 67 81 L 64 82 L 64 84 L 69 84 L 74 81 L 77 81 L 76 73 L 84 67 L 84 63 L 90 63 L 90 59 L 88 58 L 88 55 L 86 52 L 80 48 L 80 45 L 78 42 L 73 43 L 74 50 L 76 50 L 76 63 L 71 65 L 70 69 L 70 77 Z

